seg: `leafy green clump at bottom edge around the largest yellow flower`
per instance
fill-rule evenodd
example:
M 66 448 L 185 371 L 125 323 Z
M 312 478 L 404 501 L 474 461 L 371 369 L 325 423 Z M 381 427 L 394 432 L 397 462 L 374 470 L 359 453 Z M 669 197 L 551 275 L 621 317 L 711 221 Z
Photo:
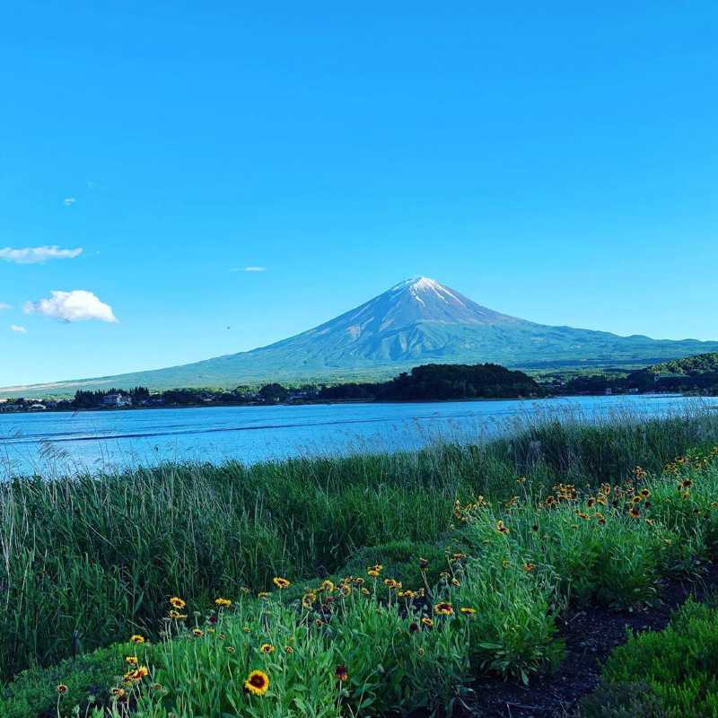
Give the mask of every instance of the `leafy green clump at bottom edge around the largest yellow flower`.
M 335 655 L 319 632 L 298 623 L 293 610 L 276 600 L 241 600 L 232 614 L 200 630 L 199 636 L 181 631 L 161 644 L 152 679 L 162 689 L 140 696 L 137 718 L 338 718 Z M 244 689 L 254 670 L 267 676 L 263 695 Z

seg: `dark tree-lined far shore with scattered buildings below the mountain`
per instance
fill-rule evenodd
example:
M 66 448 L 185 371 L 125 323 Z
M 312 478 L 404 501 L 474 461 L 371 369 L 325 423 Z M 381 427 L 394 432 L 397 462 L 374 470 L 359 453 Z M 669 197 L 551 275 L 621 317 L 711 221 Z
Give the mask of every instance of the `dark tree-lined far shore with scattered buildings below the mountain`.
M 644 369 L 602 373 L 555 372 L 531 377 L 499 364 L 425 364 L 390 381 L 285 387 L 238 386 L 232 390 L 78 390 L 70 398 L 0 398 L 0 413 L 98 409 L 267 406 L 349 401 L 442 401 L 544 398 L 614 394 L 718 395 L 718 354 L 687 357 Z

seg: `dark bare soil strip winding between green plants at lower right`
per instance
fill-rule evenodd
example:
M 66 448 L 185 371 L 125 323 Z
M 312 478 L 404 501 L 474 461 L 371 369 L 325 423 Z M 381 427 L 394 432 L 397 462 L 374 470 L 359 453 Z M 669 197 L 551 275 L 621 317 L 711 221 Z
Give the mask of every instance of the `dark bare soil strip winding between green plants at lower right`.
M 700 599 L 716 587 L 718 565 L 711 565 L 700 581 L 662 582 L 661 600 L 651 608 L 625 612 L 596 608 L 570 614 L 559 625 L 566 656 L 556 673 L 534 678 L 528 687 L 492 679 L 477 681 L 462 718 L 562 718 L 574 714 L 578 701 L 596 687 L 609 653 L 626 642 L 626 629 L 660 631 L 688 596 Z

